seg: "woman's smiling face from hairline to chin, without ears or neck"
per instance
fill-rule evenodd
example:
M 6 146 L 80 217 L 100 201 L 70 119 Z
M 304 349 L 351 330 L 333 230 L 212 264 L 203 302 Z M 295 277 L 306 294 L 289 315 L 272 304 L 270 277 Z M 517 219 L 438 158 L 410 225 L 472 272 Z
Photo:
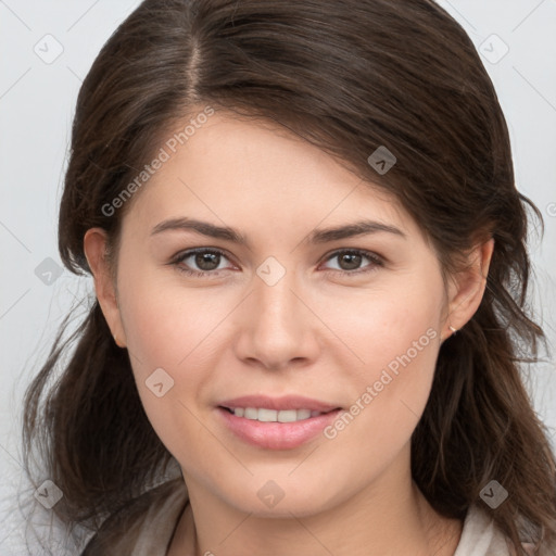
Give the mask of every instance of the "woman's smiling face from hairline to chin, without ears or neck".
M 283 128 L 217 112 L 130 208 L 108 319 L 192 496 L 301 516 L 408 473 L 441 340 L 464 323 L 401 206 Z

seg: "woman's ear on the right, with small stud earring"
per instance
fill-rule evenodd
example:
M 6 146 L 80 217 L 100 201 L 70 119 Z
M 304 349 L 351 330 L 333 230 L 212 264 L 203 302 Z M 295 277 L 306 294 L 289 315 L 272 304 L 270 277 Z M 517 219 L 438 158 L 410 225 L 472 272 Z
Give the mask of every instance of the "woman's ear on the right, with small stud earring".
M 469 253 L 468 267 L 452 277 L 448 288 L 448 314 L 442 338 L 450 337 L 454 327 L 459 330 L 475 315 L 486 287 L 486 276 L 494 251 L 494 239 L 476 245 Z

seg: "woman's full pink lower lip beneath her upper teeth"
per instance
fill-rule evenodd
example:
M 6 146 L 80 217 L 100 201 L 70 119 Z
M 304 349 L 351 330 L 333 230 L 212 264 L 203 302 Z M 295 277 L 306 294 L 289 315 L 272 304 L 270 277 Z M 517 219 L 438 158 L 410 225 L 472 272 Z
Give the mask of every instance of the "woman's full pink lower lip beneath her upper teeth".
M 249 444 L 268 450 L 291 450 L 317 437 L 340 414 L 334 409 L 294 422 L 263 422 L 238 417 L 228 409 L 216 408 L 227 427 Z

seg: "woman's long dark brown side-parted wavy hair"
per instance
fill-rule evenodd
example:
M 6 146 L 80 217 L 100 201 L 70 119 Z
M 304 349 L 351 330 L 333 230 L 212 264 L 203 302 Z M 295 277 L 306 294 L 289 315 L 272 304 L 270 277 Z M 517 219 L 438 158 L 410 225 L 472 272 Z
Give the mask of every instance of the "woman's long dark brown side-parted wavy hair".
M 270 118 L 393 193 L 446 275 L 494 238 L 482 302 L 440 349 L 412 471 L 429 503 L 459 519 L 495 479 L 509 497 L 483 507 L 517 553 L 526 533 L 539 546 L 555 542 L 556 462 L 519 366 L 538 361 L 545 340 L 528 316 L 527 205 L 541 224 L 542 215 L 516 189 L 506 122 L 464 29 L 431 0 L 146 0 L 79 91 L 59 222 L 68 269 L 90 273 L 83 239 L 91 227 L 117 247 L 131 203 L 112 215 L 102 207 L 168 130 L 207 104 Z M 384 175 L 367 162 L 381 146 L 397 159 Z M 73 336 L 63 330 L 26 393 L 25 457 L 42 442 L 48 477 L 64 493 L 56 517 L 97 529 L 173 456 L 98 302 Z

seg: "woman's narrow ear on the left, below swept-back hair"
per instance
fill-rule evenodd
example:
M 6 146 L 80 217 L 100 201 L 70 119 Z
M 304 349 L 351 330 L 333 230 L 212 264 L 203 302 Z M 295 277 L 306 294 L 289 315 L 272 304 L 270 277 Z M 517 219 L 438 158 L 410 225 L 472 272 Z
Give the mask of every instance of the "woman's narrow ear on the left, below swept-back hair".
M 104 318 L 116 344 L 119 348 L 125 348 L 126 338 L 117 302 L 117 288 L 106 256 L 106 231 L 102 228 L 90 228 L 85 233 L 83 243 Z

